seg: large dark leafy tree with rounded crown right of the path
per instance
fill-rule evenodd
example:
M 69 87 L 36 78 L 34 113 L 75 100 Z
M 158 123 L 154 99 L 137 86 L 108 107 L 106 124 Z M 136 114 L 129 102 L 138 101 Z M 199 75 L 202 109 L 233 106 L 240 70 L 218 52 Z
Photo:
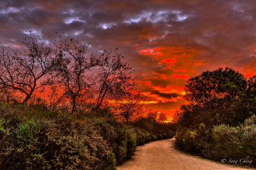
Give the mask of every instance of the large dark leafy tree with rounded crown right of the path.
M 250 94 L 247 80 L 234 69 L 204 71 L 190 78 L 185 90 L 184 98 L 189 104 L 180 108 L 175 119 L 180 119 L 186 127 L 200 123 L 210 127 L 221 123 L 237 125 L 251 115 L 247 109 L 252 99 L 246 95 Z

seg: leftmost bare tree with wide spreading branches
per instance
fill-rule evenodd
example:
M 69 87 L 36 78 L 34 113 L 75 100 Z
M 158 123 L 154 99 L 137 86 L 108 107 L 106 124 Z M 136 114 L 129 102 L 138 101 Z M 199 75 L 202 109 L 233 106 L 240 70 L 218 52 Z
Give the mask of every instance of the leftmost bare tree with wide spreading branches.
M 24 36 L 19 50 L 0 45 L 0 88 L 20 92 L 26 103 L 36 89 L 51 83 L 47 75 L 58 62 L 51 41 L 40 37 Z

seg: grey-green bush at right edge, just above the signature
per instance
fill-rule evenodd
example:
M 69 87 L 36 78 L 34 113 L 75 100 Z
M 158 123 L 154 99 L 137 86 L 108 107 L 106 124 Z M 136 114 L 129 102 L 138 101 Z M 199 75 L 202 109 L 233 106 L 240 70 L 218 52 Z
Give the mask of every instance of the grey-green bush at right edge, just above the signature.
M 212 129 L 212 150 L 205 154 L 212 159 L 223 158 L 241 159 L 248 157 L 256 159 L 256 121 L 255 116 L 244 120 L 244 124 L 237 127 L 218 125 Z M 255 162 L 252 162 L 255 165 Z

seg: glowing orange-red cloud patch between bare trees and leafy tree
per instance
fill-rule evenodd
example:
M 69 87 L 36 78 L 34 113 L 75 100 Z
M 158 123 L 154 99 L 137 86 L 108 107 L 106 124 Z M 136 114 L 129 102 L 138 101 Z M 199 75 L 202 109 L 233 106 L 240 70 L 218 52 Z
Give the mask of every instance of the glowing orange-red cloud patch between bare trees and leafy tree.
M 139 50 L 140 55 L 150 57 L 159 66 L 151 75 L 143 74 L 143 83 L 147 86 L 144 95 L 149 97 L 154 106 L 161 106 L 158 111 L 173 115 L 173 110 L 184 103 L 182 96 L 185 94 L 186 80 L 196 73 L 196 67 L 205 65 L 203 60 L 196 59 L 199 52 L 191 46 L 157 46 Z M 164 103 L 172 105 L 164 106 Z

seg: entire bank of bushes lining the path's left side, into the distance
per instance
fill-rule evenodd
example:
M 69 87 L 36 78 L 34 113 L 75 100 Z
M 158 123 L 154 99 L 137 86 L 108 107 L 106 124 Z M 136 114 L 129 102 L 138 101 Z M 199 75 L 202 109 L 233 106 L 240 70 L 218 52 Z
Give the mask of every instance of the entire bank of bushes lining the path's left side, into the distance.
M 157 139 L 110 113 L 102 117 L 106 110 L 97 113 L 100 117 L 79 111 L 77 118 L 40 105 L 0 103 L 0 111 L 3 169 L 116 169 L 136 146 Z

